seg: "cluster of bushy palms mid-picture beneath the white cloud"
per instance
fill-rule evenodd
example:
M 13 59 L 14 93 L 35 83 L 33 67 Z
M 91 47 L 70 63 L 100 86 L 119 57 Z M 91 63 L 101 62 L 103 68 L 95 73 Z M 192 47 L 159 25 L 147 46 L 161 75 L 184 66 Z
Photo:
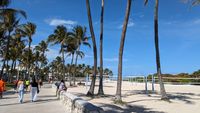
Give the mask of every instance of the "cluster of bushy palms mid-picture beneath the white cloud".
M 49 35 L 47 39 L 47 42 L 51 45 L 60 45 L 60 53 L 62 54 L 62 57 L 57 57 L 55 61 L 52 62 L 52 65 L 59 65 L 59 69 L 57 69 L 57 71 L 60 70 L 59 72 L 61 72 L 62 79 L 68 76 L 70 85 L 72 85 L 72 80 L 73 85 L 75 85 L 76 68 L 74 73 L 72 73 L 73 65 L 76 67 L 78 57 L 83 58 L 85 56 L 84 52 L 81 51 L 81 48 L 82 46 L 90 47 L 88 42 L 89 39 L 90 38 L 86 36 L 86 27 L 80 25 L 73 27 L 71 31 L 63 25 L 57 26 L 54 33 Z M 68 57 L 71 56 L 69 69 L 65 68 L 65 54 Z M 69 71 L 66 72 L 66 70 Z

